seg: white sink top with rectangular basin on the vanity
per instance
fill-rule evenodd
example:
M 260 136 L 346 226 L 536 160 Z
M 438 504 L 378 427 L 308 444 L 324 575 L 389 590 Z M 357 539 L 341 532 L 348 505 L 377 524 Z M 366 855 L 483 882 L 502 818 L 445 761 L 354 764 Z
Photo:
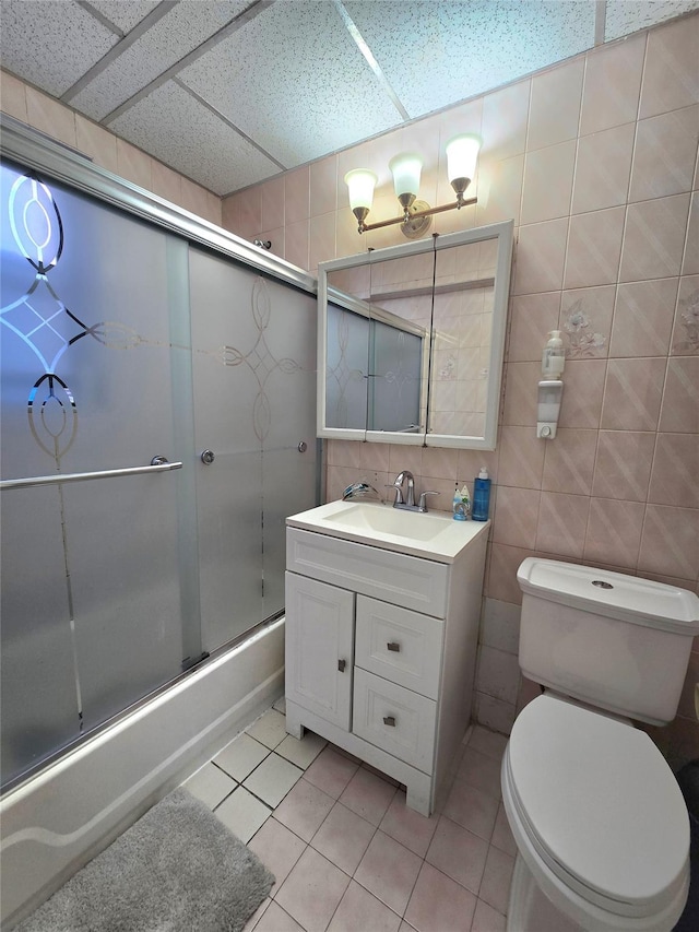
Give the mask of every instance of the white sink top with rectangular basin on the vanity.
M 453 563 L 463 547 L 488 527 L 487 521 L 454 521 L 445 512 L 425 515 L 378 502 L 330 502 L 292 515 L 286 523 L 439 563 Z

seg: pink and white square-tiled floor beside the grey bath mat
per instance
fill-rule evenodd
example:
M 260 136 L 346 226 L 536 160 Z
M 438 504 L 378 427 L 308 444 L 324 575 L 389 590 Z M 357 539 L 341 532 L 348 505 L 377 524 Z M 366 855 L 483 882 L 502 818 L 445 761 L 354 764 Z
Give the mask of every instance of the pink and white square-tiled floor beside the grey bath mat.
M 245 932 L 503 932 L 516 847 L 500 799 L 507 739 L 472 730 L 443 810 L 309 732 L 284 700 L 187 780 L 272 871 Z

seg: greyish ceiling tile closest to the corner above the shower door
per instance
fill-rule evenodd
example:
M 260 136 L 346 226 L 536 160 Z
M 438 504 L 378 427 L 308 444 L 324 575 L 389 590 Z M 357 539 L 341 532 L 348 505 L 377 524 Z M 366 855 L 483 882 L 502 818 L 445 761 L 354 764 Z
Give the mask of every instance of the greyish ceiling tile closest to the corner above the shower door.
M 280 170 L 175 81 L 118 117 L 111 129 L 220 196 Z

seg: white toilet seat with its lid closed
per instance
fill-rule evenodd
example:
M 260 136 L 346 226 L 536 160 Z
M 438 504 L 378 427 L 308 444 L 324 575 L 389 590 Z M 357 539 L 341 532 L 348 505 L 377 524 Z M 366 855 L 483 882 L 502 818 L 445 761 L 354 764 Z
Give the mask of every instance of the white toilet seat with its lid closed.
M 565 888 L 631 925 L 684 902 L 687 809 L 644 732 L 543 695 L 516 720 L 502 774 L 506 804 Z

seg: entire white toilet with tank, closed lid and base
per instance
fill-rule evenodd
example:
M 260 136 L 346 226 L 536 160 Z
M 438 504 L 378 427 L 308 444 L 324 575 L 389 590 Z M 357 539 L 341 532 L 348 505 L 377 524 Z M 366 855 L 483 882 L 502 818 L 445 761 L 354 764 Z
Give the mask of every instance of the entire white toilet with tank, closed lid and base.
M 546 692 L 502 758 L 517 841 L 508 932 L 668 932 L 689 889 L 689 817 L 629 719 L 675 717 L 699 599 L 619 573 L 529 557 L 520 666 Z

